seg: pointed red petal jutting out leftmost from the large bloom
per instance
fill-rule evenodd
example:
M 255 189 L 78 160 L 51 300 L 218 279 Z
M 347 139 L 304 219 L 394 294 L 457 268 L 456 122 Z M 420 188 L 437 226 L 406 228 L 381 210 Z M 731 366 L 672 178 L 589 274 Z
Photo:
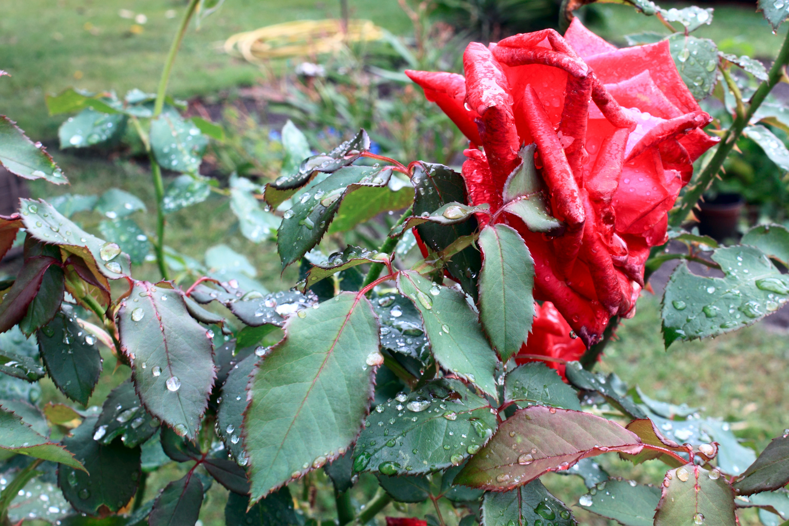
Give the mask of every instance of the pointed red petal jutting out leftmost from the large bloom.
M 424 90 L 424 97 L 436 103 L 454 125 L 474 144 L 482 144 L 474 119 L 476 111 L 466 110 L 466 79 L 457 73 L 416 71 L 406 69 L 409 79 Z

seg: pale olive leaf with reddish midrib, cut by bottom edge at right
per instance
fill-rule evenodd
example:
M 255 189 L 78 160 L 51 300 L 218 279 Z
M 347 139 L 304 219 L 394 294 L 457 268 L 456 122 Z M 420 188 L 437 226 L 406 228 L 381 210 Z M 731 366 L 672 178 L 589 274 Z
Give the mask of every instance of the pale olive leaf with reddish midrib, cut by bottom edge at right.
M 694 464 L 671 469 L 663 481 L 655 526 L 735 526 L 734 492 L 715 470 Z

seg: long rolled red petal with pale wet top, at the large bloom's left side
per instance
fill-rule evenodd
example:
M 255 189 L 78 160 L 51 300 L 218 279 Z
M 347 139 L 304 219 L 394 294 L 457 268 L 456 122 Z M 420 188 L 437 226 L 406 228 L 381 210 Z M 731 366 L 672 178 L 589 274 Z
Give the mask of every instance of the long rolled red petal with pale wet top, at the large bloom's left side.
M 520 161 L 520 142 L 507 75 L 490 50 L 477 42 L 466 47 L 463 68 L 466 70 L 466 103 L 480 115 L 477 125 L 481 144 L 500 192 L 507 176 Z

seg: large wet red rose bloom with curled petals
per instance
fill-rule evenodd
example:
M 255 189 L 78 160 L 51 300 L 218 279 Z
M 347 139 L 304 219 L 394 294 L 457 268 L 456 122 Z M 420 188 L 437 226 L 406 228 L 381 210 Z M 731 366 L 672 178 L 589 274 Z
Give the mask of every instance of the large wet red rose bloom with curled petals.
M 649 248 L 692 163 L 717 139 L 682 81 L 667 41 L 616 49 L 574 19 L 552 30 L 470 43 L 466 76 L 407 71 L 469 138 L 462 175 L 471 204 L 503 204 L 522 145 L 548 188 L 559 235 L 513 226 L 533 256 L 535 298 L 555 304 L 585 345 L 612 315 L 632 316 Z M 488 218 L 481 218 L 487 221 Z

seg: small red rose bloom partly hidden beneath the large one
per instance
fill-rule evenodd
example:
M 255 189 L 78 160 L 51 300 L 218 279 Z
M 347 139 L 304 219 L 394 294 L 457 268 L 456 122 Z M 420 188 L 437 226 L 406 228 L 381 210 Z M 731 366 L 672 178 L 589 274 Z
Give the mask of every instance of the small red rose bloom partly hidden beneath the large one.
M 571 334 L 570 325 L 559 314 L 554 304 L 550 301 L 544 301 L 541 306 L 535 303 L 532 332 L 529 334 L 529 341 L 522 346 L 520 353 L 515 355 L 515 363 L 522 365 L 531 361 L 540 361 L 522 356 L 524 354 L 549 356 L 565 361 L 578 360 L 586 350 L 586 346 L 581 338 L 577 336 L 574 338 Z M 564 364 L 548 360 L 545 360 L 544 364 L 555 369 L 563 379 L 566 379 Z

